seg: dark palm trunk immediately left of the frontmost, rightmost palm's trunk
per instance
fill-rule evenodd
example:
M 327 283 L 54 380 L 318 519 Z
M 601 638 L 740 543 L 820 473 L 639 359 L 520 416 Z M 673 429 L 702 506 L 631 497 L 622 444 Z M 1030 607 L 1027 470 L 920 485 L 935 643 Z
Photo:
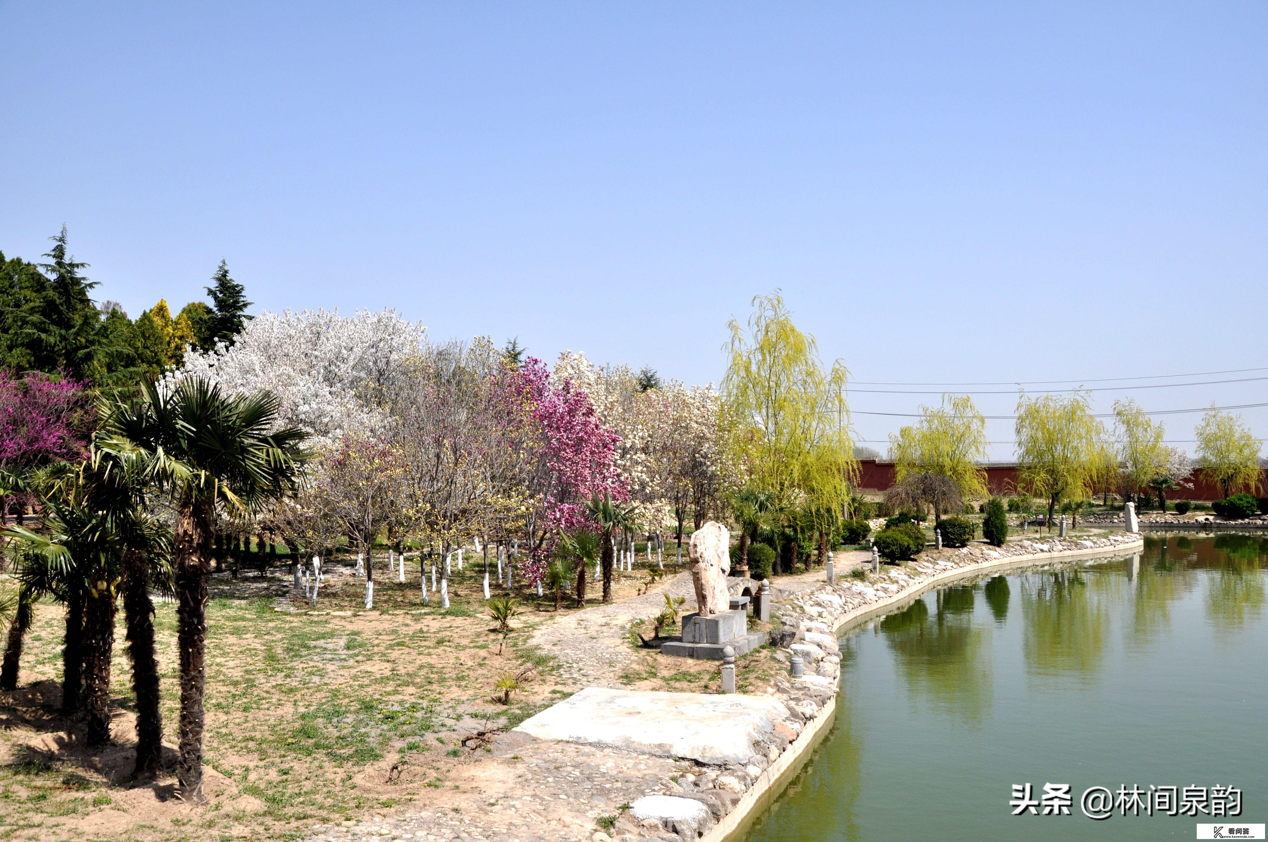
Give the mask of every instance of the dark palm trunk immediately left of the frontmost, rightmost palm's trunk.
M 137 696 L 137 763 L 134 779 L 150 779 L 162 765 L 162 713 L 158 710 L 158 659 L 155 657 L 153 602 L 148 562 L 142 553 L 123 557 L 123 614 L 127 618 L 132 691 Z

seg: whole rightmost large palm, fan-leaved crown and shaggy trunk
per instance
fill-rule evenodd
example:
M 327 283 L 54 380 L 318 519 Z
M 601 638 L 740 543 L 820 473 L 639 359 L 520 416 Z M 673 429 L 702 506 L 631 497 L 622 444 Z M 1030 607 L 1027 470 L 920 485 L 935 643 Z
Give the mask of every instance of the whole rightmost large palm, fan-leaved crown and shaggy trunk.
M 306 432 L 293 427 L 270 432 L 276 417 L 278 398 L 271 394 L 231 396 L 203 378 L 185 378 L 162 392 L 145 385 L 137 411 L 119 420 L 109 448 L 119 455 L 142 457 L 176 508 L 178 781 L 179 795 L 188 803 L 207 800 L 203 687 L 216 508 L 246 516 L 264 501 L 292 493 L 309 458 L 303 448 Z

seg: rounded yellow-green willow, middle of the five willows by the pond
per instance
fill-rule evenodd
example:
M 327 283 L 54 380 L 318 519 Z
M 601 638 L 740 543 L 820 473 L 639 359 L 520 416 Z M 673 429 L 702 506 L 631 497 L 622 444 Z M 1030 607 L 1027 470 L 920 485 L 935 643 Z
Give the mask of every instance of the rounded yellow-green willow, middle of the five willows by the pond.
M 1092 487 L 1104 425 L 1085 392 L 1017 401 L 1017 468 L 1023 489 L 1047 501 L 1047 524 L 1063 500 L 1083 500 Z

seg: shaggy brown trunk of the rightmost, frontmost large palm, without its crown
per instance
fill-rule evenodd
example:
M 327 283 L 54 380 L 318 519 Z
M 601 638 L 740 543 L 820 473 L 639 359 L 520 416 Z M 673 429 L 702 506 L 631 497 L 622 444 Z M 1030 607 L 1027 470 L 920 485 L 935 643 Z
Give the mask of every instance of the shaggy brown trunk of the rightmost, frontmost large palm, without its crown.
M 176 516 L 176 648 L 180 656 L 180 798 L 203 804 L 203 686 L 207 680 L 207 535 L 212 506 L 185 501 Z

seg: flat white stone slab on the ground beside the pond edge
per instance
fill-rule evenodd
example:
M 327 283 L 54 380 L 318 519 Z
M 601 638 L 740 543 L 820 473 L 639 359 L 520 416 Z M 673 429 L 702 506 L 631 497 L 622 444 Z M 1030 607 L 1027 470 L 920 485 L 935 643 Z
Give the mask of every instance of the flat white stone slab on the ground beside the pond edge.
M 744 763 L 753 743 L 789 715 L 772 696 L 587 687 L 515 730 L 701 763 Z

